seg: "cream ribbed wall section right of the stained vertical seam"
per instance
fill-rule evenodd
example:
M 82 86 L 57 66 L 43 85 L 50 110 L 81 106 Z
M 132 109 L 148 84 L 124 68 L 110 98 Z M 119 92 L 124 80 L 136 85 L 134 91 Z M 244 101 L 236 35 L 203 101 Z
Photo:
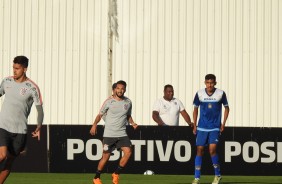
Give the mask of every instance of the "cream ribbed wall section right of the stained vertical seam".
M 230 103 L 228 125 L 282 127 L 282 1 L 119 0 L 114 79 L 129 82 L 135 119 L 151 120 L 172 84 L 192 114 L 214 73 Z M 183 119 L 182 123 L 183 123 Z

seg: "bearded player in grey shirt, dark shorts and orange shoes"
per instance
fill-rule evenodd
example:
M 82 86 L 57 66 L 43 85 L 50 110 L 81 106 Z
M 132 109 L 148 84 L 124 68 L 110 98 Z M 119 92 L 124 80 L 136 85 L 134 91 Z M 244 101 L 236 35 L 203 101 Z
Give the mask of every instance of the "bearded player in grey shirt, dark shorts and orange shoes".
M 118 81 L 113 90 L 114 95 L 103 103 L 90 129 L 90 134 L 95 135 L 97 133 L 97 124 L 106 114 L 104 116 L 103 156 L 98 164 L 93 184 L 102 184 L 100 174 L 115 148 L 121 149 L 123 156 L 120 159 L 119 166 L 112 174 L 113 184 L 118 184 L 120 171 L 125 167 L 131 156 L 131 141 L 126 133 L 126 124 L 129 122 L 134 129 L 137 128 L 137 124 L 134 123 L 131 117 L 132 103 L 129 98 L 124 96 L 125 91 L 126 82 Z

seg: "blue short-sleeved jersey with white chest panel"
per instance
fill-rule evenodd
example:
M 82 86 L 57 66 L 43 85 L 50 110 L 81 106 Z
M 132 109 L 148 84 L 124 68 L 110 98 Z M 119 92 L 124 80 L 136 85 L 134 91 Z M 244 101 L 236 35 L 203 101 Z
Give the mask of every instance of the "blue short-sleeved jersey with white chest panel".
M 206 89 L 199 90 L 194 98 L 195 107 L 200 107 L 198 130 L 219 131 L 221 126 L 222 105 L 228 106 L 224 91 L 215 88 L 212 95 L 208 95 Z

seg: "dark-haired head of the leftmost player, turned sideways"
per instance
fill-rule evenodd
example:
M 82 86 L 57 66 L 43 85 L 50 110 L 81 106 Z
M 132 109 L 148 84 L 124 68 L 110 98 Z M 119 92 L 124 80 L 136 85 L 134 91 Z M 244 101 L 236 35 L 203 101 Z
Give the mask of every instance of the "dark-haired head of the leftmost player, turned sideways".
M 17 56 L 14 58 L 13 63 L 14 78 L 17 80 L 25 76 L 28 67 L 28 58 L 25 56 Z

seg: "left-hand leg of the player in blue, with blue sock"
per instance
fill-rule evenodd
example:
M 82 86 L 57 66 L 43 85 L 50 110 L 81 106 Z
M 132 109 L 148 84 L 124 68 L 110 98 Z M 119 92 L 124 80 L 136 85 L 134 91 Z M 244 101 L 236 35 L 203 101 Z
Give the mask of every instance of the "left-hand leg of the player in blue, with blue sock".
M 200 182 L 201 177 L 201 167 L 202 167 L 202 159 L 204 155 L 204 148 L 207 144 L 207 132 L 197 131 L 196 137 L 196 146 L 197 146 L 197 155 L 195 157 L 195 179 L 193 180 L 193 184 Z

